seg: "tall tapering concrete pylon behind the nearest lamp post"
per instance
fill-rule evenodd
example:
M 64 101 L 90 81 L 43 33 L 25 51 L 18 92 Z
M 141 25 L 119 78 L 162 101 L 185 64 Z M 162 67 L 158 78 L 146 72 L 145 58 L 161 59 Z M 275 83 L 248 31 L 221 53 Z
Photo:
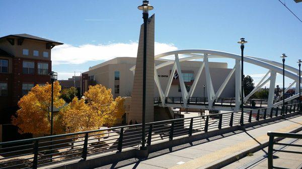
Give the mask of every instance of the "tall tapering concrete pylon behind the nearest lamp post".
M 155 16 L 147 21 L 146 55 L 146 102 L 145 121 L 154 121 L 154 24 Z M 143 24 L 140 26 L 139 42 L 128 120 L 142 122 L 142 75 L 143 75 Z

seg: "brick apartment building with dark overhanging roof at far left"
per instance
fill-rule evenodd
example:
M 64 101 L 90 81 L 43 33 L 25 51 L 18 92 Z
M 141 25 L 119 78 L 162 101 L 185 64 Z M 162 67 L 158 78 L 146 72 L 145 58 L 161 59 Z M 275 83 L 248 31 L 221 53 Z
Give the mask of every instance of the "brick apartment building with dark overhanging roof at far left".
M 18 139 L 11 116 L 34 85 L 50 81 L 51 49 L 56 45 L 62 43 L 28 34 L 0 38 L 0 142 Z

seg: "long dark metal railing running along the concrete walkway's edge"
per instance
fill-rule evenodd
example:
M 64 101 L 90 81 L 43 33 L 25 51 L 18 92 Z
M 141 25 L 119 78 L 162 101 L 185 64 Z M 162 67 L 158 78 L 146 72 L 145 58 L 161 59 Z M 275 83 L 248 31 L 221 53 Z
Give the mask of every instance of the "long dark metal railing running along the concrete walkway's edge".
M 298 110 L 298 104 L 284 106 L 284 114 Z M 244 111 L 244 123 L 282 115 L 282 106 Z M 241 111 L 209 114 L 146 123 L 147 146 L 228 128 L 240 123 Z M 98 154 L 137 149 L 141 144 L 141 124 L 60 134 L 0 143 L 0 168 L 37 168 L 75 158 L 86 160 Z

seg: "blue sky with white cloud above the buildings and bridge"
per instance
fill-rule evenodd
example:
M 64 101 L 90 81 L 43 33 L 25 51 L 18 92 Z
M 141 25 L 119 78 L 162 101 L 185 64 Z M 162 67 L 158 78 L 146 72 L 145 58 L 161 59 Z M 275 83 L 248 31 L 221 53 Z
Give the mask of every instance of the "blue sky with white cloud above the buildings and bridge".
M 284 2 L 284 0 L 282 0 Z M 278 0 L 149 1 L 156 14 L 157 52 L 212 49 L 240 54 L 237 41 L 249 42 L 245 54 L 297 67 L 302 59 L 302 23 Z M 302 18 L 302 3 L 285 0 Z M 141 1 L 4 1 L 0 0 L 0 36 L 27 33 L 63 42 L 52 53 L 59 79 L 87 71 L 118 56 L 135 57 L 142 24 Z M 97 21 L 96 21 L 97 20 Z M 131 48 L 131 50 L 130 50 Z M 120 52 L 119 49 L 124 49 Z M 73 52 L 72 52 L 73 51 Z M 119 52 L 118 52 L 119 51 Z M 210 60 L 228 62 L 233 60 Z M 245 64 L 245 74 L 260 80 L 265 69 Z M 281 77 L 277 77 L 277 83 Z M 286 81 L 286 83 L 291 83 Z

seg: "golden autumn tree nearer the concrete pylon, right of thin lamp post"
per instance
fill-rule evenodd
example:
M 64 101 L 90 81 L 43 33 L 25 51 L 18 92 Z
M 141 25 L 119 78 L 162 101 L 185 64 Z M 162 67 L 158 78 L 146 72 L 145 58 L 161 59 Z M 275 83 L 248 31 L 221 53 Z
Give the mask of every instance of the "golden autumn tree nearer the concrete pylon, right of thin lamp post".
M 104 124 L 112 126 L 124 114 L 123 99 L 113 99 L 111 89 L 102 85 L 89 86 L 84 98 L 73 98 L 61 109 L 60 114 L 64 116 L 63 125 L 67 132 L 99 129 Z

